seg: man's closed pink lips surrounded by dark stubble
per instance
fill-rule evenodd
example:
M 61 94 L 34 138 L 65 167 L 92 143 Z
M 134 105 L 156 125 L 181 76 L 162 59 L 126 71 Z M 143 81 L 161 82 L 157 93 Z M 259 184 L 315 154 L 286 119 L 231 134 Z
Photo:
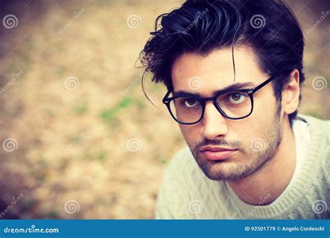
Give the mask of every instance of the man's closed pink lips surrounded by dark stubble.
M 237 152 L 236 149 L 214 147 L 214 146 L 203 146 L 200 150 L 201 154 L 208 160 L 223 160 L 228 159 Z

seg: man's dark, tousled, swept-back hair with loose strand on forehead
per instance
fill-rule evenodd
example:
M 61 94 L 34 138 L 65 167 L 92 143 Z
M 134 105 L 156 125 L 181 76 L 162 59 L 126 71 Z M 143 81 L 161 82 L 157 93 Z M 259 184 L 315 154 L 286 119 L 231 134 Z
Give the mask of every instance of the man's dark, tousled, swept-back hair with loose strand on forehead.
M 178 56 L 186 52 L 206 55 L 223 47 L 231 47 L 233 53 L 239 45 L 251 47 L 262 71 L 276 76 L 272 85 L 278 102 L 292 70 L 299 70 L 300 84 L 305 80 L 304 36 L 292 10 L 281 0 L 188 0 L 159 15 L 150 34 L 139 59 L 145 72 L 152 72 L 152 81 L 168 89 Z M 295 116 L 297 111 L 289 115 L 290 124 Z

